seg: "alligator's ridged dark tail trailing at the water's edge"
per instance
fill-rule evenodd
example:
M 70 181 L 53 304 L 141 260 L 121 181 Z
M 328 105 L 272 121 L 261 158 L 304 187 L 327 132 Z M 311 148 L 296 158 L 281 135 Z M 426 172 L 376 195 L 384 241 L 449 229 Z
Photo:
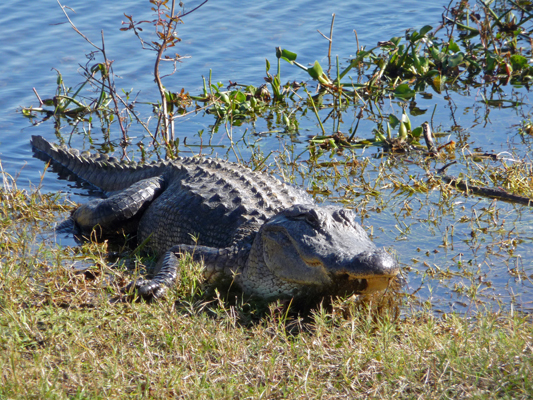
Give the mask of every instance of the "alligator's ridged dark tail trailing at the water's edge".
M 32 136 L 31 144 L 37 158 L 51 159 L 77 179 L 104 192 L 123 190 L 135 182 L 161 175 L 168 168 L 168 162 L 137 165 L 101 154 L 80 155 L 78 150 L 55 146 L 42 136 Z

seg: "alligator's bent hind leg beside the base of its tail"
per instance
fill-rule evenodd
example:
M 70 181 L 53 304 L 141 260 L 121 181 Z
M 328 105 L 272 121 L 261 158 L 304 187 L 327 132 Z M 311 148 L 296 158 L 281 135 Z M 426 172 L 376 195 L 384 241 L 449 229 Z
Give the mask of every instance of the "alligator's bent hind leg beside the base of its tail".
M 107 199 L 96 199 L 81 205 L 71 218 L 83 233 L 89 233 L 95 227 L 103 233 L 118 231 L 128 221 L 140 216 L 164 190 L 163 177 L 143 179 Z

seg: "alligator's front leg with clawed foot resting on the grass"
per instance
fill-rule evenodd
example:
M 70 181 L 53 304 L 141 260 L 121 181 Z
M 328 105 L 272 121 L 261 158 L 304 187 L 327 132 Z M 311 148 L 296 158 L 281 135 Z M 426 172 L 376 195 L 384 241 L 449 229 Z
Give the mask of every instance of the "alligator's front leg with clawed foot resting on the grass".
M 218 279 L 227 273 L 228 265 L 237 269 L 240 263 L 239 254 L 232 249 L 218 249 L 207 246 L 177 245 L 172 247 L 159 260 L 156 267 L 156 274 L 152 279 L 142 279 L 130 283 L 126 291 L 132 288 L 143 298 L 161 298 L 168 288 L 176 284 L 178 276 L 179 257 L 188 253 L 192 255 L 193 261 L 203 262 L 205 265 L 204 277 L 208 282 Z M 231 278 L 231 277 L 228 277 Z

